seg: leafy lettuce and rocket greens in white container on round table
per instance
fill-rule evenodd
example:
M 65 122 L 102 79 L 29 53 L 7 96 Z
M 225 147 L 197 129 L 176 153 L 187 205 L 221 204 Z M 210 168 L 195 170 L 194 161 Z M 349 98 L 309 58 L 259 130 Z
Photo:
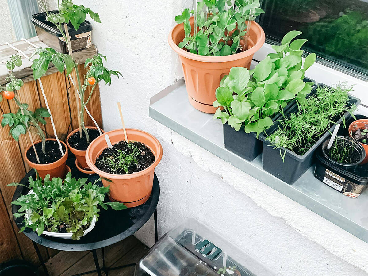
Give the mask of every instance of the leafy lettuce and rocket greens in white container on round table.
M 37 231 L 40 236 L 43 231 L 72 233 L 73 240 L 79 240 L 88 228 L 93 217 L 98 218 L 99 207 L 107 210 L 123 210 L 127 206 L 120 202 L 104 202 L 109 187 L 100 187 L 96 180 L 89 182 L 88 178 L 76 179 L 68 173 L 66 178 L 50 179 L 47 174 L 44 180 L 29 177 L 29 188 L 32 193 L 21 195 L 13 205 L 20 206 L 15 217 L 24 217 L 24 226 Z M 12 183 L 8 186 L 22 186 Z M 27 186 L 25 186 L 27 187 Z M 28 187 L 27 187 L 28 188 Z

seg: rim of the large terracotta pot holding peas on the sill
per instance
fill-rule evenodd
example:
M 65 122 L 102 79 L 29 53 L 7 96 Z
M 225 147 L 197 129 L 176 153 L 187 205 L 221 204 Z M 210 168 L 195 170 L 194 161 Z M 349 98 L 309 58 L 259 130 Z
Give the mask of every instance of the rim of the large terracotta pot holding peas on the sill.
M 191 17 L 191 18 L 193 18 L 193 17 Z M 248 21 L 245 21 L 245 22 L 248 23 Z M 256 26 L 256 28 L 261 30 L 261 38 L 258 39 L 258 42 L 256 42 L 253 47 L 251 47 L 250 49 L 245 50 L 244 52 L 241 52 L 241 53 L 230 54 L 229 56 L 201 56 L 199 54 L 193 54 L 193 53 L 190 53 L 190 52 L 187 52 L 187 51 L 181 49 L 174 42 L 172 34 L 173 34 L 173 31 L 175 29 L 184 28 L 183 23 L 182 24 L 176 24 L 174 26 L 174 28 L 171 29 L 171 31 L 169 33 L 169 39 L 168 39 L 169 40 L 169 45 L 180 56 L 186 57 L 186 58 L 191 59 L 191 60 L 204 61 L 204 62 L 227 62 L 227 61 L 243 59 L 245 57 L 251 56 L 256 51 L 258 51 L 261 48 L 261 46 L 263 45 L 263 43 L 265 42 L 265 40 L 266 40 L 266 35 L 265 35 L 265 32 L 263 31 L 262 27 L 259 26 L 259 24 L 255 21 L 251 21 L 251 23 L 252 23 L 251 25 L 254 24 Z

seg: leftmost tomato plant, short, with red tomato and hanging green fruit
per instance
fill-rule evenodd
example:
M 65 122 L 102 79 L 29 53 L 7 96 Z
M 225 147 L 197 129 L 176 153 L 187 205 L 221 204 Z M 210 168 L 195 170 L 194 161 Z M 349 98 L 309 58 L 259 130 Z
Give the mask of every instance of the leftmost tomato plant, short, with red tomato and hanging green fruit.
M 36 109 L 35 112 L 28 110 L 28 104 L 21 103 L 18 91 L 24 85 L 21 79 L 15 78 L 13 70 L 16 66 L 21 66 L 22 60 L 18 55 L 13 55 L 7 62 L 6 67 L 9 72 L 9 76 L 6 77 L 8 82 L 5 87 L 0 86 L 3 97 L 7 100 L 13 100 L 18 105 L 19 109 L 16 113 L 3 114 L 3 120 L 1 121 L 1 127 L 8 125 L 10 127 L 9 134 L 19 141 L 19 136 L 25 134 L 28 130 L 35 130 L 35 133 L 39 135 L 42 140 L 42 153 L 45 153 L 46 135 L 43 132 L 41 125 L 46 124 L 45 118 L 50 117 L 50 113 L 45 108 Z M 2 100 L 2 98 L 0 100 Z M 31 138 L 31 137 L 30 137 Z M 32 141 L 32 140 L 31 140 Z M 33 141 L 32 141 L 33 144 Z M 33 148 L 35 150 L 35 148 Z M 36 152 L 35 152 L 36 153 Z M 36 153 L 36 156 L 37 153 Z

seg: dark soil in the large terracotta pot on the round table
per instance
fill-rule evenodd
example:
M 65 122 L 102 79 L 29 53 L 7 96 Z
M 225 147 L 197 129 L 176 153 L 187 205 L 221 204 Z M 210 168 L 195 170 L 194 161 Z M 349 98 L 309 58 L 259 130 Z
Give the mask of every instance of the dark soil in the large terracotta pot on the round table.
M 134 150 L 135 148 L 135 150 Z M 131 163 L 127 167 L 127 172 L 122 167 L 112 167 L 106 160 L 112 160 L 119 156 L 121 153 L 123 155 L 135 155 L 137 163 Z M 138 153 L 138 154 L 137 154 Z M 128 157 L 129 158 L 129 157 Z M 127 158 L 125 158 L 126 160 Z M 125 142 L 120 141 L 112 146 L 112 148 L 106 148 L 102 151 L 100 156 L 96 159 L 95 165 L 99 170 L 105 171 L 111 174 L 131 174 L 137 173 L 138 171 L 144 170 L 151 166 L 155 162 L 155 155 L 153 155 L 151 149 L 149 149 L 145 144 L 141 142 Z M 113 162 L 114 165 L 117 162 Z

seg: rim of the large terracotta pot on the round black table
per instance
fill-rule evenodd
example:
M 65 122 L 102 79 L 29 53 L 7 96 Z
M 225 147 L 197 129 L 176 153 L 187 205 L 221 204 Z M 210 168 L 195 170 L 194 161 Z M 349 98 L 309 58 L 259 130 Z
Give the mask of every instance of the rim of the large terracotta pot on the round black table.
M 87 148 L 87 151 L 86 151 L 86 162 L 88 164 L 88 166 L 91 168 L 92 171 L 94 171 L 95 173 L 97 173 L 99 176 L 107 176 L 106 178 L 113 178 L 113 179 L 131 179 L 131 178 L 134 178 L 134 177 L 139 177 L 139 176 L 142 176 L 142 175 L 145 175 L 148 171 L 154 169 L 158 163 L 160 163 L 161 161 L 161 158 L 162 158 L 162 145 L 160 143 L 160 141 L 155 137 L 153 136 L 152 134 L 148 133 L 148 132 L 145 132 L 143 130 L 137 130 L 137 129 L 134 129 L 134 128 L 126 128 L 127 131 L 133 131 L 133 132 L 142 132 L 143 134 L 147 135 L 147 137 L 149 137 L 151 140 L 155 141 L 155 143 L 159 146 L 159 152 L 157 153 L 157 156 L 155 155 L 155 152 L 149 148 L 148 145 L 146 145 L 153 153 L 153 155 L 155 155 L 155 162 L 153 162 L 149 167 L 147 167 L 146 169 L 144 170 L 141 170 L 141 171 L 138 171 L 137 173 L 131 173 L 131 174 L 112 174 L 112 173 L 106 173 L 105 171 L 102 171 L 102 170 L 99 170 L 95 164 L 92 162 L 93 158 L 91 155 L 91 146 L 93 145 L 93 143 L 98 139 L 96 138 L 95 140 L 93 140 L 91 142 L 91 144 L 89 144 L 88 148 Z M 105 132 L 105 134 L 110 134 L 112 132 L 116 132 L 116 131 L 121 131 L 121 129 L 118 129 L 118 130 L 111 130 L 111 131 L 107 131 Z M 105 139 L 105 138 L 104 138 Z M 121 141 L 124 140 L 124 137 L 122 137 Z M 139 142 L 139 141 L 137 141 Z M 116 144 L 116 143 L 115 143 Z M 107 146 L 106 146 L 107 148 Z M 104 150 L 105 148 L 101 149 L 101 152 Z

